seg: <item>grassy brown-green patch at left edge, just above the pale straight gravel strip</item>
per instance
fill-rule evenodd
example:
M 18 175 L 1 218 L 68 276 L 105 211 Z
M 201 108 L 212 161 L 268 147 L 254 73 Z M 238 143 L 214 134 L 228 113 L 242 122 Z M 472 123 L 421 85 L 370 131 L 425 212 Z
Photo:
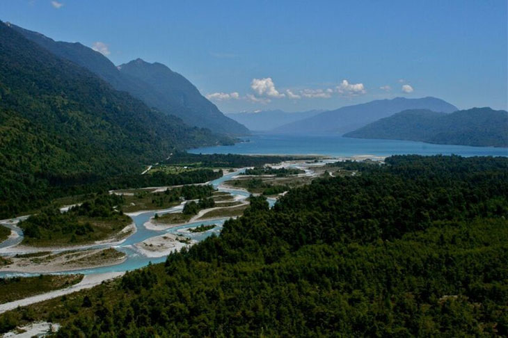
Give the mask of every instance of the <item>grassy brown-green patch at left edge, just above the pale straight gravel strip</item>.
M 81 282 L 83 275 L 40 275 L 0 279 L 0 304 L 63 289 Z

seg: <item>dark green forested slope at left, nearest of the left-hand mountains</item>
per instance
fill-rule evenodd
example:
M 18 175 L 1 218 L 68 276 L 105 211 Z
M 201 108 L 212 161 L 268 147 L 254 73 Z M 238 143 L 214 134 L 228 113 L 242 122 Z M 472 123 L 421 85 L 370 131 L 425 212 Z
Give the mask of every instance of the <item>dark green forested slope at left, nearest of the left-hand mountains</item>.
M 0 214 L 49 182 L 141 172 L 175 149 L 230 142 L 154 111 L 0 22 Z

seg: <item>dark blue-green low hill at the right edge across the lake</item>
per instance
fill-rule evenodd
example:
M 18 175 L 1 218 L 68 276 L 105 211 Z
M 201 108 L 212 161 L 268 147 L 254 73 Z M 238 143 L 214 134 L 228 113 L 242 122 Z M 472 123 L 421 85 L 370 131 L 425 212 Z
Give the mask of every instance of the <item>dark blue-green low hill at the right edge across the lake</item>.
M 471 108 L 451 114 L 422 109 L 401 111 L 344 136 L 508 147 L 508 112 L 491 108 Z

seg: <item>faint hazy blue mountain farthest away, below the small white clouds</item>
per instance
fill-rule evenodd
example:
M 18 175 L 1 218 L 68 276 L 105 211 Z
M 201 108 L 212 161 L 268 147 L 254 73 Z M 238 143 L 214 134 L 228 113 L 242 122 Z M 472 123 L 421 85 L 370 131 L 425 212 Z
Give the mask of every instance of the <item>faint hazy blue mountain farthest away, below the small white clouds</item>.
M 268 131 L 284 124 L 310 118 L 324 110 L 301 111 L 287 113 L 286 111 L 256 111 L 253 113 L 231 113 L 226 114 L 228 118 L 244 124 L 248 129 L 255 131 Z

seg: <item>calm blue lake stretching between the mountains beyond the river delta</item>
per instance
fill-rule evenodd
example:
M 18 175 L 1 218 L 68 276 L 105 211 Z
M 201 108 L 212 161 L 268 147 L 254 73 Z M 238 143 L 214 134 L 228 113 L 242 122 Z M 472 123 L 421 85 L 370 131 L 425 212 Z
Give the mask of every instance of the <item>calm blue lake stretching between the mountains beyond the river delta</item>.
M 235 145 L 202 147 L 194 154 L 320 154 L 328 156 L 392 154 L 457 154 L 461 156 L 508 156 L 508 148 L 435 145 L 405 140 L 345 138 L 337 134 L 255 134 Z

